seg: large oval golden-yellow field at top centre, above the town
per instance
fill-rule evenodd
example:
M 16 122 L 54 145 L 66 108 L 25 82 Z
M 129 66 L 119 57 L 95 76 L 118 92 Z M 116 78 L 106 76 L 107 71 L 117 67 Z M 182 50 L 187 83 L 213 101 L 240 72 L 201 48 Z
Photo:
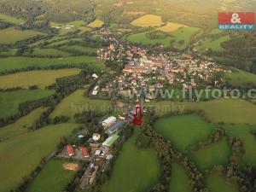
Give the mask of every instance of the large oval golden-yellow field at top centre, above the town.
M 137 20 L 133 20 L 131 25 L 133 26 L 160 26 L 162 25 L 162 18 L 158 15 L 143 15 Z

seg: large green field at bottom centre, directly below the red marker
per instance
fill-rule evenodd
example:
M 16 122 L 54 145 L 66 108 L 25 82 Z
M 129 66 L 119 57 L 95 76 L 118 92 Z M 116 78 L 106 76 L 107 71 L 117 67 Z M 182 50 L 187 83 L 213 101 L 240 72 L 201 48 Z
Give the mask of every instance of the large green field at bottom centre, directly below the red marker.
M 102 192 L 144 192 L 158 182 L 160 168 L 152 149 L 138 150 L 136 138 L 139 130 L 124 144 L 114 163 L 108 183 Z

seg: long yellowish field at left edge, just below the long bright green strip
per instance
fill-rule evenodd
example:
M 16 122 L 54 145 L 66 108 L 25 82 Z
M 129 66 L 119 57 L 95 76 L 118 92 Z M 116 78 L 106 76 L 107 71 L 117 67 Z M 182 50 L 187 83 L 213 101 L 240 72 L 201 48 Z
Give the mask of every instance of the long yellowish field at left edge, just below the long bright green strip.
M 30 85 L 37 84 L 40 88 L 44 88 L 49 84 L 54 84 L 55 79 L 78 74 L 80 69 L 68 68 L 60 70 L 42 70 L 14 73 L 0 76 L 0 88 L 6 89 L 11 87 L 27 88 Z

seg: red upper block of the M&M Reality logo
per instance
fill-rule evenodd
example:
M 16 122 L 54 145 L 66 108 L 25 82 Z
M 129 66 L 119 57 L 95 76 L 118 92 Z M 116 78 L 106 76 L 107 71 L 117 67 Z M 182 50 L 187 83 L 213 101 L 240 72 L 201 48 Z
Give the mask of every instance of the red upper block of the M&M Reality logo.
M 232 15 L 239 15 L 238 18 L 241 19 L 241 24 L 254 24 L 255 23 L 255 13 L 253 12 L 229 12 L 229 13 L 218 13 L 218 23 L 219 24 L 233 24 Z

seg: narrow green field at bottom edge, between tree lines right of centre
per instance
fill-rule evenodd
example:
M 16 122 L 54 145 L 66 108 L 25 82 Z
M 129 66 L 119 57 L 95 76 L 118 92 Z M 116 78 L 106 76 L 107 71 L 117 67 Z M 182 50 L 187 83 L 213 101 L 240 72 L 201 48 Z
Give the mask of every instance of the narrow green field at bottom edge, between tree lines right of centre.
M 172 164 L 172 177 L 169 192 L 192 192 L 187 172 L 177 163 Z

